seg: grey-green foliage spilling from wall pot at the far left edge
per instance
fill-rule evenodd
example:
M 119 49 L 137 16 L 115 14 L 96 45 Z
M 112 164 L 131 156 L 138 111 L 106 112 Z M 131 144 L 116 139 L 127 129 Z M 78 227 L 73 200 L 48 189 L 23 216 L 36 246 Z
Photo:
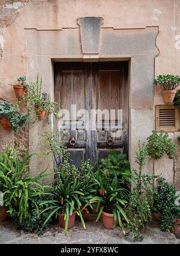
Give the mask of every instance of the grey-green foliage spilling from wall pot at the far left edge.
M 10 120 L 10 126 L 13 128 L 14 132 L 19 132 L 20 126 L 25 126 L 28 123 L 30 117 L 24 112 L 19 113 L 19 108 L 14 106 L 10 102 L 0 103 L 0 119 Z

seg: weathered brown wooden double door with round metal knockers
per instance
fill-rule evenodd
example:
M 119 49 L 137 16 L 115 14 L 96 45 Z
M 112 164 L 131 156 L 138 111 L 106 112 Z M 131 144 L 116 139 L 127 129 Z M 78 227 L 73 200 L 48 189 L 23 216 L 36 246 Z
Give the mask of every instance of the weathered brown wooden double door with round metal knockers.
M 128 62 L 55 62 L 55 122 L 72 162 L 128 150 Z

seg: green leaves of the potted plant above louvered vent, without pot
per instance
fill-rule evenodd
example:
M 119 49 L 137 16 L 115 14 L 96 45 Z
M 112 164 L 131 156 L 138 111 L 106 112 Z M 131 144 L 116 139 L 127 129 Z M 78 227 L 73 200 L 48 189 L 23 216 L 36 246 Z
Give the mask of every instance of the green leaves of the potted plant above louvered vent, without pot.
M 180 76 L 174 75 L 159 75 L 154 79 L 154 84 L 160 84 L 164 90 L 175 90 L 180 85 Z

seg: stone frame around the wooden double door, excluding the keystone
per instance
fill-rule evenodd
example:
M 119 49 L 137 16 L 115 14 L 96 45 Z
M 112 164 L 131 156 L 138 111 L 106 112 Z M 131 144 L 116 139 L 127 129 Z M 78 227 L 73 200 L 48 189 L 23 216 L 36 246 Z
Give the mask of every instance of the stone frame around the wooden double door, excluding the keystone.
M 53 100 L 53 62 L 58 61 L 129 61 L 129 131 L 128 155 L 131 166 L 137 141 L 144 140 L 154 129 L 154 79 L 155 57 L 158 55 L 156 38 L 158 27 L 139 29 L 100 29 L 99 51 L 95 54 L 82 53 L 80 28 L 46 30 L 26 28 L 26 58 L 28 79 L 34 81 L 37 73 L 43 79 L 43 89 Z M 44 150 L 41 134 L 53 130 L 45 121 L 29 124 L 29 153 Z M 53 166 L 52 156 L 48 164 Z M 34 171 L 47 166 L 43 156 L 31 161 Z M 153 163 L 148 169 L 152 170 Z

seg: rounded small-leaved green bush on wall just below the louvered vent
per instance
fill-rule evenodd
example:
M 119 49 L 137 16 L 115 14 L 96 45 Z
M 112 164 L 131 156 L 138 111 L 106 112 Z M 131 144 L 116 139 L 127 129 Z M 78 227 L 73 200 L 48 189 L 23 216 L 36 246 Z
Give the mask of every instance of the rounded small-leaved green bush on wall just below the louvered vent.
M 147 138 L 147 141 L 147 153 L 152 158 L 160 159 L 164 154 L 167 154 L 170 159 L 175 157 L 177 146 L 172 139 L 169 138 L 167 132 L 163 130 L 159 132 L 153 130 L 152 135 Z

